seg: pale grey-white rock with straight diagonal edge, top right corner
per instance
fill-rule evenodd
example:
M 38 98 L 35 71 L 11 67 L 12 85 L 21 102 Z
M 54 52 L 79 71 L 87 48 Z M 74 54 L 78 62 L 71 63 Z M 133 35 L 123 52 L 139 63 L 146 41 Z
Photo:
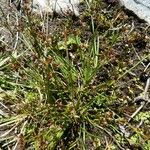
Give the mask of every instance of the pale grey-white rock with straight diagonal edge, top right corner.
M 150 24 L 150 0 L 119 0 L 127 9 Z

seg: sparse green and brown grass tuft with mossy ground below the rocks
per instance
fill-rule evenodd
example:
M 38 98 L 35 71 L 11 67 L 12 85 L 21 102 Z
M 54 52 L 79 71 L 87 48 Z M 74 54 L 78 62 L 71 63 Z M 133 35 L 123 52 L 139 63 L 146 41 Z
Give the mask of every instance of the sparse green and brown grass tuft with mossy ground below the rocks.
M 119 6 L 84 5 L 75 21 L 3 16 L 1 149 L 150 149 L 149 104 L 129 121 L 149 76 L 149 28 Z

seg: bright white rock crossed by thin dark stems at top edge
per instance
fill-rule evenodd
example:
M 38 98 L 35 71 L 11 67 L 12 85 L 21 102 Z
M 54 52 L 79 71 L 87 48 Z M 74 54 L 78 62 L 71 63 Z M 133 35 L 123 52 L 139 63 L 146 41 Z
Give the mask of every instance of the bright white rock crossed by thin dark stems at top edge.
M 79 0 L 33 0 L 32 6 L 36 12 L 72 12 L 76 16 L 79 15 Z

